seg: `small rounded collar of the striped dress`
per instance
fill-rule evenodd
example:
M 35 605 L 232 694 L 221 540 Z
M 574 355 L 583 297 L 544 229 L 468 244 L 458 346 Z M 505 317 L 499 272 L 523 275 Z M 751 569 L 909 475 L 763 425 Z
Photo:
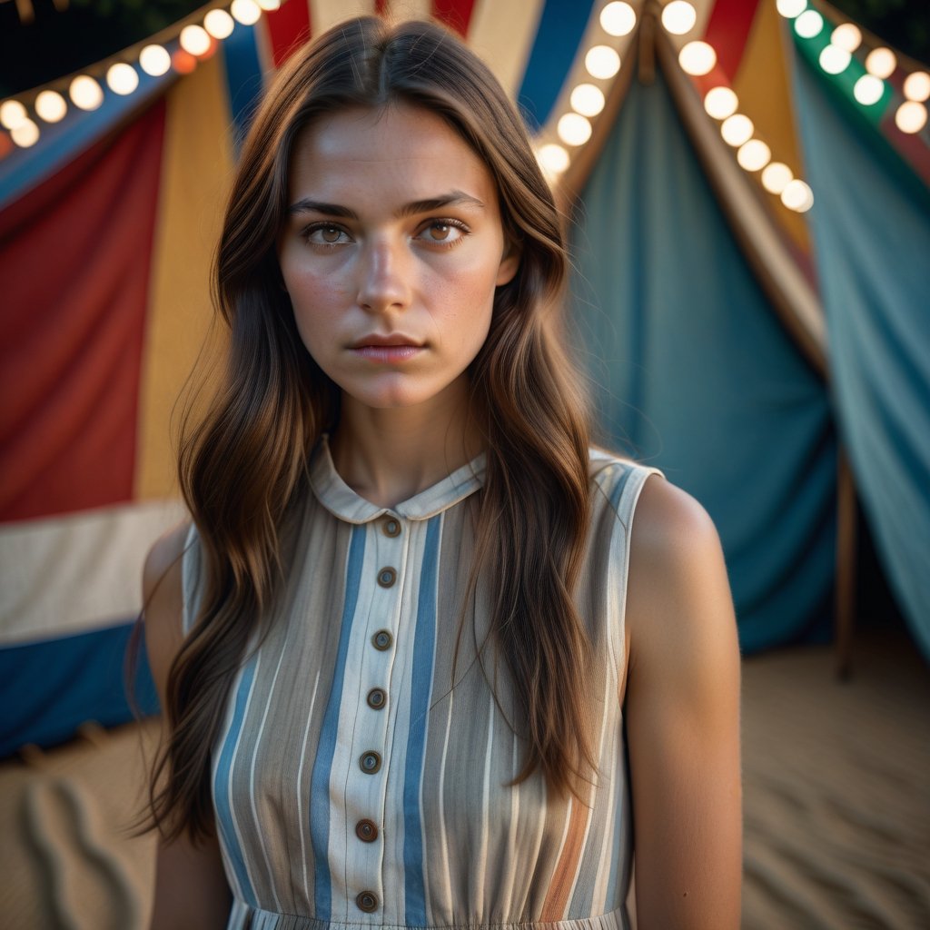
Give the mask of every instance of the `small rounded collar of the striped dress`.
M 317 500 L 333 516 L 352 524 L 364 524 L 385 513 L 395 513 L 407 520 L 427 520 L 448 510 L 481 487 L 485 477 L 485 453 L 472 458 L 442 481 L 428 487 L 396 507 L 379 507 L 359 497 L 340 477 L 333 465 L 326 434 L 313 449 L 310 460 L 310 484 Z

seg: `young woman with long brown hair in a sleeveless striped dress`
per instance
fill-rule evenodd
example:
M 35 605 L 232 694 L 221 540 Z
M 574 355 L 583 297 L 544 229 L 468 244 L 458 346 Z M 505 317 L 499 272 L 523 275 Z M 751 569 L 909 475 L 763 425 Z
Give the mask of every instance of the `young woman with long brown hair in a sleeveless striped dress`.
M 589 447 L 565 265 L 450 34 L 353 20 L 279 75 L 219 244 L 193 527 L 146 565 L 153 926 L 737 926 L 720 545 Z

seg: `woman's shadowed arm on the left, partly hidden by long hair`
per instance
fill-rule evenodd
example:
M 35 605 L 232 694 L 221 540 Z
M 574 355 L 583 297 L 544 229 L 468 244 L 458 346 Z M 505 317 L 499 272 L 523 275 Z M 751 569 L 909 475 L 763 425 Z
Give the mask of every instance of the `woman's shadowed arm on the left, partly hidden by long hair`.
M 168 671 L 183 638 L 180 556 L 187 529 L 180 526 L 154 544 L 142 576 L 145 645 L 162 707 Z M 171 843 L 159 840 L 152 930 L 225 927 L 231 897 L 216 839 L 197 845 L 186 834 Z

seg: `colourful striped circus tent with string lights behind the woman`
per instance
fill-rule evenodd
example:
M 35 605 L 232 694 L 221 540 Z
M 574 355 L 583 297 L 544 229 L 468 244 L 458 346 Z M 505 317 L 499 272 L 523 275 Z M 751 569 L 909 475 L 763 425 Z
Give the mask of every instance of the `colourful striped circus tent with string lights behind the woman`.
M 237 145 L 293 49 L 369 12 L 445 22 L 520 104 L 602 439 L 711 512 L 744 649 L 829 634 L 855 487 L 930 655 L 923 66 L 804 0 L 236 0 L 0 104 L 3 754 L 129 717 Z

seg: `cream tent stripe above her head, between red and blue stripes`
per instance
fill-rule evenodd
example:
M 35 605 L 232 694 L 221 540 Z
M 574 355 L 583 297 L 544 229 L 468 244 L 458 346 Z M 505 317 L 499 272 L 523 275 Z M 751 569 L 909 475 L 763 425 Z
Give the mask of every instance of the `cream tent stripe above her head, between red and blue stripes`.
M 468 44 L 485 60 L 512 100 L 523 83 L 539 26 L 544 0 L 477 0 L 472 11 Z

